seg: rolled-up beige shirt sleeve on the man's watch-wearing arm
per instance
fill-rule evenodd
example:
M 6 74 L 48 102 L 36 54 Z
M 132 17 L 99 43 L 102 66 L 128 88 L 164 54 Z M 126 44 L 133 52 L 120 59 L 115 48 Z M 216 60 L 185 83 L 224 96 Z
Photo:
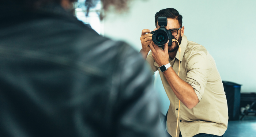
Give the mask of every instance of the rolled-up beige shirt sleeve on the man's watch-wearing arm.
M 186 82 L 193 87 L 200 102 L 204 94 L 208 77 L 212 71 L 207 53 L 204 51 L 192 50 L 186 61 L 186 68 L 188 72 Z

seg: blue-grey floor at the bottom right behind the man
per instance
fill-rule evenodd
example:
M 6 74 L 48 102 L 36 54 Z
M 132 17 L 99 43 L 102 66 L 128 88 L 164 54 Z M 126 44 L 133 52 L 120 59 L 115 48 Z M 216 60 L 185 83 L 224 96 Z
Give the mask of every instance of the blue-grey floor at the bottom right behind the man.
M 256 137 L 256 115 L 246 115 L 241 121 L 229 121 L 223 137 Z

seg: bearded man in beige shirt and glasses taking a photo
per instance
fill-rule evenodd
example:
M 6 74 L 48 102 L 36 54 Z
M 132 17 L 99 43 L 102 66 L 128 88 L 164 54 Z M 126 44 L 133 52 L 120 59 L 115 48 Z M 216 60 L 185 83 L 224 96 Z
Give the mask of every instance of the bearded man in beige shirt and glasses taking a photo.
M 202 45 L 187 40 L 182 16 L 176 9 L 167 8 L 157 12 L 155 30 L 159 28 L 158 17 L 167 17 L 166 29 L 171 30 L 174 39 L 180 43 L 181 53 L 178 52 L 176 41 L 171 46 L 167 42 L 164 49 L 155 45 L 152 34 L 146 34 L 151 30 L 142 30 L 140 53 L 150 64 L 152 72 L 159 71 L 170 100 L 167 132 L 175 137 L 178 124 L 177 134 L 180 137 L 223 136 L 228 121 L 227 101 L 214 59 Z M 181 63 L 178 76 L 179 54 Z M 161 72 L 159 66 L 163 65 L 167 70 Z

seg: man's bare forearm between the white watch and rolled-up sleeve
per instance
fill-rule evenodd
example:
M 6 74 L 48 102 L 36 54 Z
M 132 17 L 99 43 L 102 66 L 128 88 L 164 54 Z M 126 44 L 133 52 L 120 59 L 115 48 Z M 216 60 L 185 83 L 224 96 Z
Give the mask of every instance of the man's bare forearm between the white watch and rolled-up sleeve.
M 195 107 L 198 98 L 191 85 L 180 79 L 172 67 L 168 68 L 163 74 L 177 98 L 189 109 Z

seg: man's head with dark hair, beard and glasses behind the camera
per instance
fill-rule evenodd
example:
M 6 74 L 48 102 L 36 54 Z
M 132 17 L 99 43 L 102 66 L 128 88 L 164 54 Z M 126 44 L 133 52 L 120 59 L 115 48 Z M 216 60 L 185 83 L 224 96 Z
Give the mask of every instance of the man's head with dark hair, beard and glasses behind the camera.
M 182 16 L 179 14 L 179 12 L 174 8 L 166 8 L 161 9 L 155 14 L 155 26 L 156 28 L 159 28 L 157 19 L 158 17 L 167 17 L 167 30 L 171 30 L 174 28 L 180 28 L 182 27 Z M 180 30 L 178 30 L 177 36 L 174 36 L 174 39 L 176 39 L 181 44 L 181 39 L 184 34 L 184 27 L 182 27 Z M 168 52 L 175 52 L 178 49 L 178 43 L 175 41 L 172 43 L 171 46 L 168 46 Z

